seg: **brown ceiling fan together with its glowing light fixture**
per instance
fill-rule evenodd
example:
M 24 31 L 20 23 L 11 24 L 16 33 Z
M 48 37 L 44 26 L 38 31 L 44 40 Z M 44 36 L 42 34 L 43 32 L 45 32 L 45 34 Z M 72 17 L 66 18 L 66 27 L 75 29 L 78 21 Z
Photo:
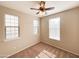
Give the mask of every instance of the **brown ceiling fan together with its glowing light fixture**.
M 32 10 L 38 10 L 38 12 L 36 13 L 36 15 L 38 15 L 39 17 L 43 17 L 45 16 L 47 13 L 46 11 L 48 10 L 53 10 L 54 7 L 49 7 L 49 8 L 46 8 L 45 7 L 45 1 L 41 1 L 39 4 L 40 4 L 40 7 L 37 9 L 37 8 L 31 8 Z

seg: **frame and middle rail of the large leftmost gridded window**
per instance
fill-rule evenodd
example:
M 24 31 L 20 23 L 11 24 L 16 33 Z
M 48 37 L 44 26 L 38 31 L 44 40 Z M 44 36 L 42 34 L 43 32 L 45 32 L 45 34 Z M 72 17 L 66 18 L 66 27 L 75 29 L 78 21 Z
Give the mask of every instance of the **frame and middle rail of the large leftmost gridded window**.
M 5 25 L 5 24 L 6 24 L 6 15 L 18 17 L 18 26 L 6 26 L 6 25 Z M 13 14 L 5 14 L 5 15 L 4 15 L 4 26 L 5 26 L 5 38 L 6 38 L 5 41 L 15 40 L 15 39 L 19 39 L 19 38 L 20 38 L 20 20 L 19 20 L 19 16 L 13 15 Z M 17 37 L 14 37 L 14 38 L 7 38 L 6 29 L 7 29 L 8 27 L 9 27 L 9 28 L 11 28 L 11 27 L 12 27 L 12 28 L 18 28 L 18 36 L 17 36 Z

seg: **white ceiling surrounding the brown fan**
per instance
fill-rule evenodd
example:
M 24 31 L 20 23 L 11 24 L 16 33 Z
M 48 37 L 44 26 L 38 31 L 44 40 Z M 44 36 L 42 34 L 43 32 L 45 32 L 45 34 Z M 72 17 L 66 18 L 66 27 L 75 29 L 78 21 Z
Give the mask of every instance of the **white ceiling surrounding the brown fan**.
M 31 10 L 30 8 L 39 8 L 39 3 L 40 1 L 0 1 L 0 5 L 2 6 L 35 16 L 37 16 L 36 13 L 38 11 Z M 46 7 L 55 7 L 55 9 L 46 11 L 47 14 L 45 16 L 75 8 L 77 6 L 79 6 L 79 1 L 46 1 Z

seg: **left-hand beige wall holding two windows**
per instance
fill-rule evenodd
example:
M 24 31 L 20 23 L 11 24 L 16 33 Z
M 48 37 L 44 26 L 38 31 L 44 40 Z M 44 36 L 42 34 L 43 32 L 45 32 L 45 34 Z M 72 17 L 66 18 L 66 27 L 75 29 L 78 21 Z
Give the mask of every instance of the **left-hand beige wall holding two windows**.
M 27 11 L 28 12 L 28 11 Z M 4 15 L 11 14 L 19 16 L 20 38 L 11 41 L 5 41 Z M 33 34 L 33 20 L 39 20 L 29 14 L 24 14 L 13 9 L 0 6 L 0 57 L 13 55 L 27 47 L 40 42 L 40 33 Z

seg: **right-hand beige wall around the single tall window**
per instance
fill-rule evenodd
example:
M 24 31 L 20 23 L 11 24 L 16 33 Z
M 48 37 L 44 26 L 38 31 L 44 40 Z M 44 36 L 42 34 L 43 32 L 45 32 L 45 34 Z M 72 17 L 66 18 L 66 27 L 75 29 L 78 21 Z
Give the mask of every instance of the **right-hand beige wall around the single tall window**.
M 61 18 L 60 41 L 48 38 L 48 21 L 58 16 Z M 79 7 L 43 17 L 41 19 L 41 41 L 79 55 Z

